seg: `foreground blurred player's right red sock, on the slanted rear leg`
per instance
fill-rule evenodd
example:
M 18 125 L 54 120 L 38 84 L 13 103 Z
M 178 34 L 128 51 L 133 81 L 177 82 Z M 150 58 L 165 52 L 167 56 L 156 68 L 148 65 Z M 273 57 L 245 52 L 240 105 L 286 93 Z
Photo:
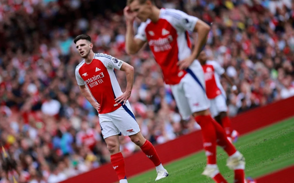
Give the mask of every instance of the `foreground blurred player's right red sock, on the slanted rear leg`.
M 235 146 L 228 140 L 225 130 L 212 117 L 211 117 L 211 121 L 216 129 L 218 145 L 221 146 L 229 156 L 233 155 L 237 150 Z

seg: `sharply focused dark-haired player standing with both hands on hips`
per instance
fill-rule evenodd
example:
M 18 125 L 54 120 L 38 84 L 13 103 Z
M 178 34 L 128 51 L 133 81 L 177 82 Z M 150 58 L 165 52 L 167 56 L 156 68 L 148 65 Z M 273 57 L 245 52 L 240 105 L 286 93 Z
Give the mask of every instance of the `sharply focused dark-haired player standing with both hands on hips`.
M 76 80 L 81 93 L 98 110 L 103 138 L 111 155 L 111 163 L 120 183 L 126 183 L 123 155 L 119 152 L 118 135 L 129 136 L 154 163 L 156 180 L 168 176 L 153 145 L 146 140 L 139 129 L 128 102 L 134 80 L 134 68 L 107 54 L 93 52 L 91 37 L 79 35 L 74 39 L 76 49 L 84 60 L 76 67 Z M 126 72 L 127 88 L 122 93 L 114 69 Z

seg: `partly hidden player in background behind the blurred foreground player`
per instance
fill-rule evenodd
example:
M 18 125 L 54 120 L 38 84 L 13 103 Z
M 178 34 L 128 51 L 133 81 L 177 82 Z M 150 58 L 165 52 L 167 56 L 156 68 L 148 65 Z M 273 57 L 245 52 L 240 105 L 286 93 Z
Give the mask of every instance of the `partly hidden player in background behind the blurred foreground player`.
M 238 138 L 238 132 L 232 130 L 230 118 L 227 115 L 228 107 L 226 104 L 226 95 L 223 86 L 220 83 L 220 76 L 226 78 L 232 86 L 234 93 L 238 93 L 237 86 L 234 85 L 229 76 L 226 75 L 225 69 L 223 69 L 216 61 L 207 60 L 205 51 L 200 53 L 198 60 L 204 71 L 206 95 L 210 100 L 209 110 L 211 115 L 223 126 L 228 139 L 232 141 L 233 138 L 235 142 Z

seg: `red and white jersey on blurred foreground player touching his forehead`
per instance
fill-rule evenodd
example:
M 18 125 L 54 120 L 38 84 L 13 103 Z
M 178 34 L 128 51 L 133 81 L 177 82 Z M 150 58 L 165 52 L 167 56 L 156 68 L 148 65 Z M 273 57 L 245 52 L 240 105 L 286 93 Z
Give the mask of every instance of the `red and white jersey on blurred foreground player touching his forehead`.
M 135 38 L 146 41 L 156 62 L 161 66 L 166 84 L 178 84 L 187 73 L 177 66 L 191 55 L 188 31 L 193 31 L 198 18 L 175 9 L 161 9 L 156 23 L 141 23 Z

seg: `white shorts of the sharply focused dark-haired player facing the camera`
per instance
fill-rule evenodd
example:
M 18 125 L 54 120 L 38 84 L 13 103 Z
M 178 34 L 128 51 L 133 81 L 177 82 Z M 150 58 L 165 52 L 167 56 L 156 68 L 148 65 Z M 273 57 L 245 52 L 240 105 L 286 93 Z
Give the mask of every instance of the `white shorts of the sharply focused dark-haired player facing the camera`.
M 99 123 L 104 139 L 119 134 L 130 136 L 140 131 L 128 101 L 113 112 L 99 114 Z

